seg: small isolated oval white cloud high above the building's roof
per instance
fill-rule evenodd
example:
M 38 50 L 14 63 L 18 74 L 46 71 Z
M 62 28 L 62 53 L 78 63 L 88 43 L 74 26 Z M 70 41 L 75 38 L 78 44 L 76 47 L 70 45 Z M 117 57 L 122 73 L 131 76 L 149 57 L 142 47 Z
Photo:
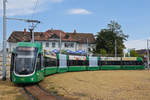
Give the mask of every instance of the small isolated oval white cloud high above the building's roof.
M 69 14 L 83 14 L 83 15 L 91 14 L 90 11 L 83 9 L 83 8 L 70 9 L 70 10 L 68 10 L 68 13 Z

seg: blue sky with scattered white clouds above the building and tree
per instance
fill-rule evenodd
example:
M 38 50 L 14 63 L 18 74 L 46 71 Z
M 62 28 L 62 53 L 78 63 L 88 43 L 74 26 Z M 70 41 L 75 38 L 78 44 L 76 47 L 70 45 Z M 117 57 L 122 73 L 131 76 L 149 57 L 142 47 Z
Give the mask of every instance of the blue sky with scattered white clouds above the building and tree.
M 0 42 L 2 42 L 2 1 L 0 0 Z M 150 0 L 7 0 L 7 17 L 37 19 L 35 31 L 60 29 L 64 32 L 97 34 L 117 21 L 125 34 L 126 48 L 144 49 L 150 38 Z M 29 23 L 7 20 L 7 38 L 28 29 Z

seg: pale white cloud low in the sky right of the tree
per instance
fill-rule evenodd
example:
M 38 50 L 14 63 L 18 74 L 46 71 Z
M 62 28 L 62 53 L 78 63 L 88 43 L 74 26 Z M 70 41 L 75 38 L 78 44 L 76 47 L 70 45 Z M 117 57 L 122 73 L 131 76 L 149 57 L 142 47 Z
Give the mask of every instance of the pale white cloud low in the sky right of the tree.
M 125 42 L 125 46 L 128 49 L 135 48 L 138 49 L 146 49 L 147 48 L 147 39 L 138 39 L 138 40 L 130 40 Z

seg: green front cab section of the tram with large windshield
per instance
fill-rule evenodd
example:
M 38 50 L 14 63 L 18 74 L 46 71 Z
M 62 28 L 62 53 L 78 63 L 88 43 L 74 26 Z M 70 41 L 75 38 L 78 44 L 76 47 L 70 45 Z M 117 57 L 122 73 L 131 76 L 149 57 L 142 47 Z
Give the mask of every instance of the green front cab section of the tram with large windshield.
M 39 43 L 18 43 L 11 56 L 11 81 L 34 83 L 42 80 L 44 78 L 42 55 L 42 47 Z

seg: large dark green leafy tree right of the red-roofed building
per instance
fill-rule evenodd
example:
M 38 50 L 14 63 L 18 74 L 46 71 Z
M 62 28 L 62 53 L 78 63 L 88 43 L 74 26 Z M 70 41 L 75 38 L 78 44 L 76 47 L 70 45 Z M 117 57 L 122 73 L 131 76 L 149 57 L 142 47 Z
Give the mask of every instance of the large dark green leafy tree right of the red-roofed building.
M 117 42 L 117 54 L 123 54 L 125 48 L 124 41 L 127 40 L 128 35 L 125 35 L 119 25 L 115 21 L 110 21 L 106 29 L 102 29 L 96 35 L 96 53 L 100 53 L 103 49 L 107 54 L 115 53 L 115 40 Z

